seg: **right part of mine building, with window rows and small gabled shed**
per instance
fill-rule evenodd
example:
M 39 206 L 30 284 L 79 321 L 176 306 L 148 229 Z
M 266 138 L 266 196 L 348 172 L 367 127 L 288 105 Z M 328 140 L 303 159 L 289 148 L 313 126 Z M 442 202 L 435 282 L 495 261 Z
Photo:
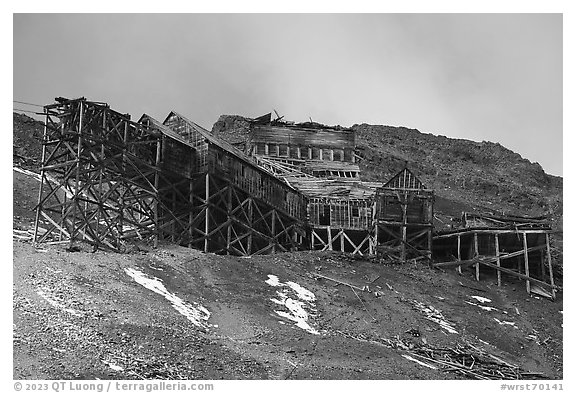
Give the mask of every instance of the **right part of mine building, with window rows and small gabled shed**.
M 433 192 L 407 168 L 385 185 L 361 181 L 354 130 L 263 116 L 245 146 L 308 198 L 312 249 L 430 258 Z

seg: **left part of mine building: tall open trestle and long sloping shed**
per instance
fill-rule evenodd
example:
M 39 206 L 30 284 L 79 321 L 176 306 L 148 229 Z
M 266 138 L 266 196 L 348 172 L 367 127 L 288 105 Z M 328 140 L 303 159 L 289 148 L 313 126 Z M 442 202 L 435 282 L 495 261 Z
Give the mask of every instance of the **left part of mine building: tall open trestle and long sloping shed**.
M 233 255 L 306 244 L 305 197 L 182 115 L 132 122 L 84 98 L 45 113 L 35 241 L 122 250 L 152 237 Z

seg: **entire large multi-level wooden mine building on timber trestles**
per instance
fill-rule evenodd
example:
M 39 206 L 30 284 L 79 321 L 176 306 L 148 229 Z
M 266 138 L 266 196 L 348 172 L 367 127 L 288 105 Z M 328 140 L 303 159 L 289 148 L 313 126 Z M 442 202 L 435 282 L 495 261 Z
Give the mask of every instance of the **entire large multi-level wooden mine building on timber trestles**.
M 37 242 L 430 256 L 432 191 L 407 168 L 363 182 L 350 128 L 268 116 L 252 122 L 242 151 L 177 112 L 134 122 L 62 98 L 45 114 Z

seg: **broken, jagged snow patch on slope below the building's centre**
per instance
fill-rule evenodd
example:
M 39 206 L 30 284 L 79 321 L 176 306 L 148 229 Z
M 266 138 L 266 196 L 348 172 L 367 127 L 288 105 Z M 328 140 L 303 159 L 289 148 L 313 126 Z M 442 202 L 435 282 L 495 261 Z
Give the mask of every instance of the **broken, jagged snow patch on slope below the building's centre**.
M 273 274 L 269 274 L 268 279 L 265 282 L 270 286 L 280 288 L 280 290 L 276 291 L 277 298 L 271 298 L 270 301 L 288 309 L 288 312 L 274 310 L 276 314 L 295 322 L 297 327 L 307 331 L 308 333 L 320 334 L 308 323 L 309 314 L 307 309 L 312 313 L 316 312 L 316 306 L 314 304 L 316 296 L 312 292 L 292 281 L 282 283 L 278 277 Z M 292 298 L 289 295 L 296 295 L 296 298 Z M 283 323 L 282 321 L 278 322 Z

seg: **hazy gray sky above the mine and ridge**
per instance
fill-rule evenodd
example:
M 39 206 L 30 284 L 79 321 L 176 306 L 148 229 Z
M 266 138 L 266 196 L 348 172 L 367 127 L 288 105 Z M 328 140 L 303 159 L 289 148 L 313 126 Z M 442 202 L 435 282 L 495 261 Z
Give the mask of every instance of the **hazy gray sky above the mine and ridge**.
M 562 175 L 561 14 L 15 14 L 14 100 L 417 128 Z M 22 107 L 22 106 L 19 106 Z

